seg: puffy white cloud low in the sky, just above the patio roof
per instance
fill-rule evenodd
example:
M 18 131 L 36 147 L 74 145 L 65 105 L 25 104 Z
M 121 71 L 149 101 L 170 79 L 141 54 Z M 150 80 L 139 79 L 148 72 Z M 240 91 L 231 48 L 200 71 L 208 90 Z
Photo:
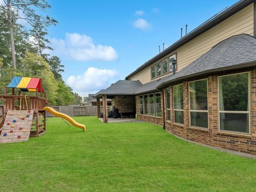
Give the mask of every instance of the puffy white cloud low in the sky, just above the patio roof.
M 84 74 L 69 76 L 66 83 L 81 95 L 87 96 L 88 93 L 96 93 L 106 89 L 111 83 L 115 82 L 119 73 L 113 69 L 98 69 L 89 67 Z

